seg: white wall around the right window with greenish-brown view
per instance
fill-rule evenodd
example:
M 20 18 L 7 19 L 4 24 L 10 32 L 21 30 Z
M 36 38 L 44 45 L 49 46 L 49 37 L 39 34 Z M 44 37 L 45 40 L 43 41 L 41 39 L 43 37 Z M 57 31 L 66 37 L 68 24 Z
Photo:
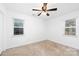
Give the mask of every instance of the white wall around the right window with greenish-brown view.
M 65 21 L 76 18 L 76 36 L 65 36 Z M 48 39 L 79 49 L 79 11 L 51 19 L 48 22 Z

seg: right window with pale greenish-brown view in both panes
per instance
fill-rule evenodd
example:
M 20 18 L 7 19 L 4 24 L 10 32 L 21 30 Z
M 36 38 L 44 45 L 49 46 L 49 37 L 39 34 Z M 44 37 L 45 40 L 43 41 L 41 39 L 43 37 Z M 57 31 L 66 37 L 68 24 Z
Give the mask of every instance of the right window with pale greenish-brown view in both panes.
M 76 35 L 76 19 L 66 20 L 65 35 Z

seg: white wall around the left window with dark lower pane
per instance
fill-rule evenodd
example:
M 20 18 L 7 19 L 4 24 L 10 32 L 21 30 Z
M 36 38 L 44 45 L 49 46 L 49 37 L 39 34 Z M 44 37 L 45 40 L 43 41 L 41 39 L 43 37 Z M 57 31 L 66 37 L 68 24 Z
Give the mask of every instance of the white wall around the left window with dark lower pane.
M 13 35 L 13 18 L 24 20 L 24 35 Z M 44 21 L 41 19 L 36 19 L 32 16 L 27 16 L 17 12 L 8 12 L 5 22 L 6 43 L 4 49 L 13 48 L 45 39 L 45 26 Z

